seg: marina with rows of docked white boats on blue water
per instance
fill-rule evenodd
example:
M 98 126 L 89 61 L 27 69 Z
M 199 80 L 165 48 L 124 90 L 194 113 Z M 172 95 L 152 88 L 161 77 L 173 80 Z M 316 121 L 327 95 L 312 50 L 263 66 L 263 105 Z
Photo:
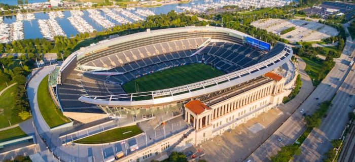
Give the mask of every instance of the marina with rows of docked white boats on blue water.
M 145 20 L 150 15 L 166 14 L 171 10 L 177 13 L 192 11 L 196 13 L 206 12 L 207 9 L 218 9 L 227 5 L 237 5 L 239 7 L 248 8 L 250 6 L 258 7 L 272 7 L 272 6 L 284 6 L 290 2 L 288 1 L 266 1 L 266 0 L 240 0 L 240 1 L 217 1 L 217 0 L 197 0 L 191 1 L 186 4 L 166 4 L 155 8 L 106 8 L 106 9 L 90 9 L 90 10 L 70 10 L 70 11 L 55 11 L 55 12 L 40 12 L 40 13 L 18 13 L 16 16 L 4 16 L 0 19 L 5 24 L 12 24 L 16 21 L 23 22 L 24 38 L 43 38 L 46 37 L 41 32 L 41 27 L 38 20 L 55 19 L 61 30 L 66 36 L 75 36 L 80 32 L 102 31 L 107 28 L 111 28 L 115 25 Z M 116 16 L 117 15 L 117 16 Z M 75 17 L 74 18 L 69 17 Z M 59 18 L 59 19 L 58 19 Z M 72 19 L 72 20 L 70 20 Z M 73 23 L 76 23 L 75 25 Z M 1 23 L 0 23 L 1 24 Z M 6 25 L 3 25 L 6 26 Z M 46 25 L 47 26 L 47 25 Z M 91 27 L 90 27 L 91 26 Z M 6 28 L 6 27 L 3 27 Z M 8 35 L 7 32 L 10 29 L 2 30 L 1 35 Z M 5 33 L 3 33 L 5 32 Z M 48 35 L 48 34 L 47 34 Z M 5 36 L 10 37 L 10 36 Z M 6 39 L 6 38 L 4 38 Z M 9 38 L 10 39 L 10 38 Z M 6 41 L 8 42 L 8 41 Z

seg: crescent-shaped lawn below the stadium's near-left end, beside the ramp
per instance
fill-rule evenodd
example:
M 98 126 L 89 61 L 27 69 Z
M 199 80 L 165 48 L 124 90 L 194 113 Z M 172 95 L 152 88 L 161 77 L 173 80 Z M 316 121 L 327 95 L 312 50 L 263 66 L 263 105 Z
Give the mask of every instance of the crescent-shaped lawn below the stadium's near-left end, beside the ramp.
M 128 127 L 116 128 L 113 130 L 105 131 L 74 142 L 83 143 L 83 144 L 109 143 L 109 142 L 124 140 L 136 136 L 140 133 L 143 133 L 143 131 L 140 130 L 138 126 L 128 126 Z

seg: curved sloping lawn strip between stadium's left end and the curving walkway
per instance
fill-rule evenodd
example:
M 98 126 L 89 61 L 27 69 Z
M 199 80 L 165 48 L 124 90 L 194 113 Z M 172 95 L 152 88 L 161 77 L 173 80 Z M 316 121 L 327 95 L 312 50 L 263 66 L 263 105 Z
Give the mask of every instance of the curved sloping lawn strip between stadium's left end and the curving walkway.
M 48 90 L 48 75 L 42 80 L 38 87 L 37 101 L 41 114 L 50 128 L 70 122 L 52 100 Z

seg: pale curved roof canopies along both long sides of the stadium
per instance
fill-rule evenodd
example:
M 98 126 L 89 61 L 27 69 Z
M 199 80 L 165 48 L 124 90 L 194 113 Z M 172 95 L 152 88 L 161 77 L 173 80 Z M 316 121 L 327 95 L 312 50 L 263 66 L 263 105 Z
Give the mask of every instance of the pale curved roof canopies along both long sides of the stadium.
M 95 45 L 82 48 L 72 55 L 70 55 L 62 64 L 59 73 L 61 73 L 70 62 L 80 58 L 83 58 L 87 55 L 100 51 L 102 49 L 108 48 L 109 46 L 116 45 L 118 43 L 124 43 L 132 41 L 134 39 L 140 39 L 144 37 L 150 37 L 155 35 L 162 35 L 168 33 L 176 32 L 199 32 L 199 31 L 212 31 L 212 32 L 223 32 L 228 33 L 231 36 L 239 37 L 244 39 L 245 37 L 251 37 L 240 31 L 222 28 L 222 27 L 181 27 L 181 28 L 169 28 L 161 30 L 148 30 L 147 32 L 140 32 L 135 34 L 130 34 L 126 36 L 120 36 L 114 39 L 105 40 L 99 42 Z M 248 80 L 254 79 L 265 73 L 272 71 L 273 69 L 285 64 L 292 57 L 293 51 L 290 46 L 287 46 L 283 43 L 277 43 L 269 52 L 266 59 L 261 60 L 260 62 L 222 75 L 215 78 L 203 80 L 202 82 L 193 83 L 189 85 L 157 90 L 151 92 L 142 92 L 134 94 L 121 94 L 121 95 L 109 95 L 109 96 L 81 96 L 79 101 L 84 103 L 90 103 L 101 106 L 112 106 L 112 107 L 129 107 L 129 106 L 146 106 L 146 105 L 157 105 L 157 104 L 166 104 L 176 101 L 183 101 L 212 92 L 217 92 L 232 86 L 236 86 L 247 82 Z M 78 64 L 77 66 L 80 66 Z M 150 96 L 151 99 L 146 100 L 135 100 L 136 97 L 145 97 Z

